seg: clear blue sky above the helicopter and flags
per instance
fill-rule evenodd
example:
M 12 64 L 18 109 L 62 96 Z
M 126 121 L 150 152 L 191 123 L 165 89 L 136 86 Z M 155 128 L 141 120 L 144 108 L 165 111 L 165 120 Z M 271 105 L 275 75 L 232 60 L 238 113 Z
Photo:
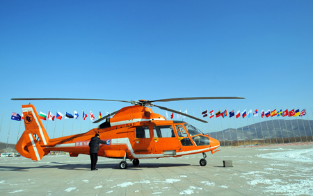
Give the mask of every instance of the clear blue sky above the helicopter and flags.
M 0 141 L 6 142 L 9 128 L 11 143 L 24 130 L 10 114 L 29 101 L 10 98 L 241 96 L 246 99 L 159 105 L 198 118 L 205 109 L 232 108 L 307 108 L 312 118 L 312 8 L 313 1 L 1 1 Z M 128 106 L 31 103 L 54 114 Z M 56 136 L 93 127 L 75 121 L 65 121 L 65 130 L 58 121 Z M 50 136 L 54 125 L 48 122 Z

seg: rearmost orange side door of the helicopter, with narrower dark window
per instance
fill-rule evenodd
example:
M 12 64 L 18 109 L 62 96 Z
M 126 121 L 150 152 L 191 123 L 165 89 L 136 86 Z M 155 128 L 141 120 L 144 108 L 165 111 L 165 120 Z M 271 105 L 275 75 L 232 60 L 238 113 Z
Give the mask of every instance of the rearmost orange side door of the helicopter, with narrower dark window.
M 136 127 L 135 141 L 134 152 L 152 151 L 153 143 L 149 127 Z

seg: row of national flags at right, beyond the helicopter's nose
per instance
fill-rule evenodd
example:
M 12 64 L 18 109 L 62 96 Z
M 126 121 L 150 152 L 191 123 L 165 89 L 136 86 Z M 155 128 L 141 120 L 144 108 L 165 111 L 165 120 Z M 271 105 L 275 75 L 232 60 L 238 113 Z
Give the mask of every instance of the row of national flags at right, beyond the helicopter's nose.
M 215 115 L 214 115 L 215 114 Z M 305 111 L 305 109 L 303 109 L 301 112 L 300 112 L 300 109 L 291 109 L 288 111 L 288 109 L 284 110 L 284 112 L 282 111 L 282 109 L 280 110 L 276 110 L 274 109 L 273 111 L 271 110 L 267 110 L 266 112 L 264 112 L 264 109 L 262 109 L 262 112 L 261 112 L 261 117 L 263 118 L 264 116 L 266 118 L 268 117 L 273 117 L 273 116 L 305 116 L 307 114 L 307 112 Z M 216 116 L 216 118 L 222 116 L 223 118 L 227 116 L 227 109 L 225 109 L 224 112 L 220 112 L 220 110 L 216 113 L 214 113 L 214 110 L 212 110 L 211 112 L 209 112 L 208 114 L 208 111 L 204 111 L 202 112 L 202 116 L 203 118 L 204 117 L 207 117 L 209 115 L 209 118 L 213 118 L 214 116 Z M 238 112 L 236 112 L 236 114 L 234 114 L 234 109 L 232 110 L 232 112 L 229 113 L 229 116 L 230 118 L 232 118 L 232 116 L 236 116 L 236 118 L 239 118 L 240 116 L 242 116 L 242 118 L 245 118 L 246 116 L 248 116 L 248 118 L 250 118 L 251 116 L 259 116 L 258 112 L 257 112 L 257 109 L 255 109 L 255 112 L 252 113 L 252 109 L 250 109 L 250 111 L 246 112 L 246 109 L 243 110 L 243 112 L 241 113 L 240 110 L 238 110 Z

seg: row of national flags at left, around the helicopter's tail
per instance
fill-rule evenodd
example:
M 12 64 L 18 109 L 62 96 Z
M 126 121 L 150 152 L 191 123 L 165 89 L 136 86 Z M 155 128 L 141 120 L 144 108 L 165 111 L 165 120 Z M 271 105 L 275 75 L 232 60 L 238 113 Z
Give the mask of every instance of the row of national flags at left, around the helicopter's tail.
M 106 112 L 106 113 L 109 114 L 108 112 Z M 72 115 L 68 112 L 65 112 L 65 115 L 62 114 L 61 112 L 56 112 L 56 116 L 54 116 L 54 114 L 52 114 L 50 111 L 48 112 L 48 115 L 41 112 L 41 111 L 39 112 L 39 118 L 43 121 L 47 121 L 47 119 L 54 121 L 55 118 L 58 120 L 62 120 L 63 116 L 65 119 L 66 118 L 79 118 L 79 114 L 75 110 L 74 110 L 74 115 Z M 88 117 L 88 115 L 85 112 L 83 112 L 83 115 L 82 115 L 83 120 L 86 120 L 87 117 Z M 89 117 L 90 117 L 91 121 L 95 120 L 95 115 L 91 111 L 89 113 Z M 100 111 L 99 111 L 99 118 L 101 118 L 101 112 Z M 24 119 L 24 116 L 23 116 L 23 114 L 21 116 L 15 112 L 12 112 L 11 119 L 15 120 L 15 121 L 21 121 Z

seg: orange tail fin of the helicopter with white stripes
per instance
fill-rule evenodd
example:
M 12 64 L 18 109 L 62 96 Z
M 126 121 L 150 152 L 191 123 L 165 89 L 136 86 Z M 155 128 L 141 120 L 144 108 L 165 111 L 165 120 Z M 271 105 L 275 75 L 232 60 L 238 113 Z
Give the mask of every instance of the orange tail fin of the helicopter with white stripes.
M 49 143 L 49 136 L 33 105 L 22 105 L 22 111 L 25 131 L 15 145 L 15 149 L 23 157 L 31 158 L 33 161 L 41 160 L 45 154 L 49 153 L 45 147 L 41 146 Z

